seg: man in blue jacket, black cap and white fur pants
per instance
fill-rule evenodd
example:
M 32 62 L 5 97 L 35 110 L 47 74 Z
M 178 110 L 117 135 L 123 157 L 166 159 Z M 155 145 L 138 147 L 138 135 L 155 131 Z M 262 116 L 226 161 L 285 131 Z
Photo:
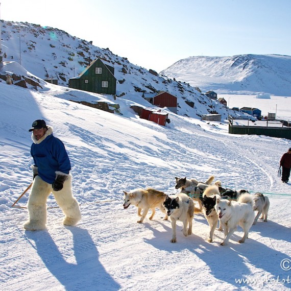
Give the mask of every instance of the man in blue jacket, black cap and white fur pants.
M 35 120 L 29 131 L 33 140 L 33 185 L 27 207 L 29 220 L 23 226 L 26 230 L 46 228 L 46 200 L 51 192 L 65 214 L 63 224 L 74 226 L 81 220 L 81 212 L 72 195 L 71 166 L 65 146 L 43 119 Z

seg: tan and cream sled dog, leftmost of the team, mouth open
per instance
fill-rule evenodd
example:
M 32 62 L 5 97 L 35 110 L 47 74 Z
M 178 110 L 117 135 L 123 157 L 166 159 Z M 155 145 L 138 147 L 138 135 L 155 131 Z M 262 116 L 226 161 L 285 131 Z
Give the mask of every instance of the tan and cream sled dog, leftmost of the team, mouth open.
M 159 208 L 163 213 L 165 213 L 165 209 L 163 207 L 163 202 L 165 199 L 165 193 L 155 190 L 153 188 L 137 188 L 134 190 L 131 190 L 129 192 L 124 191 L 124 204 L 123 208 L 127 209 L 129 205 L 134 205 L 137 207 L 137 215 L 141 216 L 140 220 L 138 220 L 138 223 L 142 223 L 144 220 L 144 217 L 146 217 L 149 209 L 152 210 L 152 215 L 150 216 L 150 220 L 154 218 L 154 215 L 156 213 L 156 208 Z M 141 214 L 141 210 L 143 209 L 143 212 Z M 168 216 L 165 215 L 164 220 L 167 220 Z

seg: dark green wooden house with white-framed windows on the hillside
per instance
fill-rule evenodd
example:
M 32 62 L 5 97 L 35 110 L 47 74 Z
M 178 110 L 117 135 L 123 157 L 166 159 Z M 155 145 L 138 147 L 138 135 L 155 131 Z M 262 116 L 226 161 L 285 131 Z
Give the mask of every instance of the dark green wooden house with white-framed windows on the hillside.
M 69 88 L 114 95 L 116 93 L 114 67 L 98 58 L 78 77 L 69 79 Z

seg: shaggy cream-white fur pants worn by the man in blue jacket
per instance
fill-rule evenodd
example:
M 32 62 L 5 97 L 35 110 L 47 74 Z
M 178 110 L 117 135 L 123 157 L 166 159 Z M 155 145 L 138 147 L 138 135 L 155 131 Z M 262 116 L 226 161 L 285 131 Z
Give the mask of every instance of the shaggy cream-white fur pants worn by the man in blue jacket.
M 53 193 L 56 202 L 65 214 L 64 225 L 73 226 L 81 220 L 79 204 L 72 196 L 70 175 L 60 191 L 54 191 L 52 184 L 48 184 L 36 176 L 28 200 L 29 220 L 24 224 L 25 229 L 45 229 L 46 201 L 50 193 Z

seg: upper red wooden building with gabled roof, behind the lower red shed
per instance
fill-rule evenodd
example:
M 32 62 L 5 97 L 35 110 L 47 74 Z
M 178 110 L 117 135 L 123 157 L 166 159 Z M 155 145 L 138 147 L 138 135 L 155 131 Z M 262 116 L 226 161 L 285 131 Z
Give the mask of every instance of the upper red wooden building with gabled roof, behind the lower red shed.
M 167 107 L 169 110 L 177 114 L 177 97 L 166 91 L 143 93 L 142 97 L 155 106 Z

